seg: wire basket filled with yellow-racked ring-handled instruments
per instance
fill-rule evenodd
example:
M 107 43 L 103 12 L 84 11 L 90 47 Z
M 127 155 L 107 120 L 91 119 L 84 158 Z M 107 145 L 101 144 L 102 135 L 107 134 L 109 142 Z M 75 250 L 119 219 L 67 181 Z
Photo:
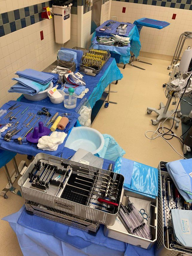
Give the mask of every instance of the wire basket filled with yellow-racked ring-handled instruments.
M 110 57 L 109 50 L 90 49 L 88 53 L 83 54 L 80 71 L 98 74 Z

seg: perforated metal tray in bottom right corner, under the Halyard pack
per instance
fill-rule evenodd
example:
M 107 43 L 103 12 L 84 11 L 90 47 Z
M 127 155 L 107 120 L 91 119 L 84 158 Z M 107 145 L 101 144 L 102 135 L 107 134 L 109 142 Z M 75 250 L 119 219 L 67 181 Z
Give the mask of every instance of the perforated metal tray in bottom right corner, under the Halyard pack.
M 165 240 L 165 237 L 164 237 L 164 214 L 163 214 L 161 175 L 163 175 L 165 179 L 167 179 L 167 178 L 171 179 L 171 177 L 166 170 L 162 171 L 160 166 L 162 164 L 166 164 L 166 163 L 167 162 L 161 161 L 158 166 L 158 169 L 159 169 L 158 219 L 157 219 L 158 230 L 157 230 L 157 243 L 156 243 L 155 255 L 157 255 L 157 256 L 192 255 L 192 253 L 190 253 L 188 250 L 185 250 L 184 248 L 183 249 L 173 249 L 173 248 L 167 249 L 167 247 L 165 246 L 165 243 L 164 243 L 164 240 Z M 176 207 L 176 202 L 174 200 L 171 200 L 171 204 L 172 204 L 173 208 Z M 164 200 L 164 205 L 165 205 L 165 200 Z M 183 207 L 182 206 L 182 198 L 180 198 L 180 208 L 182 208 L 182 207 Z M 167 224 L 169 226 L 172 226 L 170 210 L 168 208 L 167 202 L 166 202 L 166 215 L 165 216 L 167 217 Z

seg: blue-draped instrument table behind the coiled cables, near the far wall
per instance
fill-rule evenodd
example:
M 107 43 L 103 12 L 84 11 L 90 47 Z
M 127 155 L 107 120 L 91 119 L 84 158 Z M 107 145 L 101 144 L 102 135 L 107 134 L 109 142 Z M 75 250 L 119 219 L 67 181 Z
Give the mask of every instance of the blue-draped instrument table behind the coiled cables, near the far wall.
M 103 26 L 106 26 L 106 24 L 109 22 L 115 22 L 115 23 L 112 23 L 111 25 L 109 25 L 111 30 L 106 29 L 104 32 L 100 31 L 100 28 L 103 28 Z M 127 25 L 127 32 L 124 35 L 119 35 L 119 33 L 117 33 L 117 27 L 120 24 Z M 131 24 L 129 22 L 118 22 L 118 21 L 114 21 L 114 20 L 107 20 L 106 22 L 103 22 L 102 25 L 100 25 L 98 28 L 95 29 L 95 32 L 93 33 L 93 36 L 92 36 L 92 40 L 96 36 L 111 36 L 111 34 L 129 37 L 130 45 L 131 45 L 130 51 L 132 51 L 136 57 L 139 56 L 139 51 L 141 49 L 141 43 L 139 41 L 138 29 L 135 26 L 135 24 Z

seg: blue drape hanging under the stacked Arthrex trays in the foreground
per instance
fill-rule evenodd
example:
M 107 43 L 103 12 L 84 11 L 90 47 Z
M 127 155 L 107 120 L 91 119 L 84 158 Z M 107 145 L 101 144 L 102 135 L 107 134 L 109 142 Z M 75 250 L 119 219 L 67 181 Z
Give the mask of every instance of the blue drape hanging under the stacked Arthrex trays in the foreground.
M 154 256 L 150 250 L 105 237 L 103 225 L 96 236 L 45 218 L 28 215 L 24 206 L 16 213 L 4 217 L 15 231 L 24 256 Z

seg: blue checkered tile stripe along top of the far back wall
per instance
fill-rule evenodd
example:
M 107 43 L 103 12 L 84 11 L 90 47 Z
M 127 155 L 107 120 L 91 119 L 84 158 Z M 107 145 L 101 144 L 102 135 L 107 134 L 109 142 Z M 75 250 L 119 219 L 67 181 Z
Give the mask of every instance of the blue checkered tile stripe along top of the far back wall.
M 102 0 L 105 1 L 105 0 Z M 136 4 L 149 4 L 155 6 L 172 7 L 177 9 L 192 10 L 192 0 L 112 0 Z

